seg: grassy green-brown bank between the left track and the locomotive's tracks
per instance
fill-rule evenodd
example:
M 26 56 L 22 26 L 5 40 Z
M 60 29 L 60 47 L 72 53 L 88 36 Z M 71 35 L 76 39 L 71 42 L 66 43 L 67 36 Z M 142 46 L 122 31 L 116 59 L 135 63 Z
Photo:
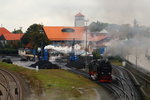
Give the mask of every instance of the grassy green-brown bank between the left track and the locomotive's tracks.
M 44 90 L 48 100 L 93 100 L 95 92 L 92 88 L 98 87 L 95 83 L 80 75 L 62 69 L 35 70 L 26 69 L 17 65 L 0 63 L 4 68 L 19 73 L 28 80 L 28 83 L 41 94 Z M 41 100 L 47 100 L 41 98 Z

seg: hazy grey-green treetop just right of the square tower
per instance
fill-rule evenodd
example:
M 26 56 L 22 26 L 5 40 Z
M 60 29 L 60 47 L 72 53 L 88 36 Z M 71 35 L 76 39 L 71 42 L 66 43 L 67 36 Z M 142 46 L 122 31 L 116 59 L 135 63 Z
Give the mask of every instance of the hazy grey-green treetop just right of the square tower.
M 92 22 L 89 26 L 88 29 L 91 32 L 100 32 L 102 29 L 104 29 L 108 24 L 107 23 L 102 23 L 102 22 Z

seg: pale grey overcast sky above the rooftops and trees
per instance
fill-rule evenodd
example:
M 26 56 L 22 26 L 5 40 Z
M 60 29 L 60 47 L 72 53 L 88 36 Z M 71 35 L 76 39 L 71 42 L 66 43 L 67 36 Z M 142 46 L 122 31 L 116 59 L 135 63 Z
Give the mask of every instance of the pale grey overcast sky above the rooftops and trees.
M 25 31 L 33 23 L 73 26 L 81 12 L 90 22 L 132 23 L 150 26 L 150 0 L 0 0 L 0 24 Z M 89 23 L 90 23 L 89 22 Z

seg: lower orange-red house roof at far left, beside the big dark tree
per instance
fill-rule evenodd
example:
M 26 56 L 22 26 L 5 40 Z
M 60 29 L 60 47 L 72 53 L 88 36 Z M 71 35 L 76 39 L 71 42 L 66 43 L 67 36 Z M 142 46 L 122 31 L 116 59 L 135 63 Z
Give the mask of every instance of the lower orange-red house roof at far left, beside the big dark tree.
M 24 34 L 3 34 L 5 40 L 20 40 Z

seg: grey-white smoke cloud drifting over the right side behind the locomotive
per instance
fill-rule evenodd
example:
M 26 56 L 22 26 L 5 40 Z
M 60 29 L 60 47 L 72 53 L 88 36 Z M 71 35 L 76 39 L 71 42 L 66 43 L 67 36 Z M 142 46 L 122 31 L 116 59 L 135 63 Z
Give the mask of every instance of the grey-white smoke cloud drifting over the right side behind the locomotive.
M 150 33 L 149 31 L 146 32 L 143 30 L 149 30 L 149 28 L 133 27 L 132 29 L 132 37 L 113 39 L 105 55 L 121 56 L 134 64 L 136 64 L 137 60 L 137 65 L 139 67 L 150 71 Z M 118 37 L 124 36 L 125 34 L 125 32 L 120 33 Z

